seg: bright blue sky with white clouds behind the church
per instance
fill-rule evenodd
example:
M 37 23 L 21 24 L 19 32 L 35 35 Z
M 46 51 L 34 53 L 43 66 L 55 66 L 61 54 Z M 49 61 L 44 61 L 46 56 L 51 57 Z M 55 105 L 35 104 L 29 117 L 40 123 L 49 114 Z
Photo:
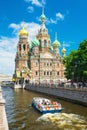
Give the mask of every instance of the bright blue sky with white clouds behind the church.
M 0 73 L 13 75 L 15 56 L 22 26 L 30 41 L 40 28 L 42 8 L 51 44 L 58 34 L 60 52 L 66 55 L 87 39 L 87 0 L 1 0 L 0 1 Z

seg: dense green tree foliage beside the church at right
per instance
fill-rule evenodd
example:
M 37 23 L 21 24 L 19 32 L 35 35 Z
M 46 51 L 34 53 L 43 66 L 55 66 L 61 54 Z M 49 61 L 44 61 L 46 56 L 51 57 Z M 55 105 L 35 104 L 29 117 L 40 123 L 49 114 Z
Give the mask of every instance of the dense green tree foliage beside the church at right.
M 65 76 L 75 82 L 87 82 L 87 40 L 80 43 L 77 50 L 71 51 L 63 59 Z

